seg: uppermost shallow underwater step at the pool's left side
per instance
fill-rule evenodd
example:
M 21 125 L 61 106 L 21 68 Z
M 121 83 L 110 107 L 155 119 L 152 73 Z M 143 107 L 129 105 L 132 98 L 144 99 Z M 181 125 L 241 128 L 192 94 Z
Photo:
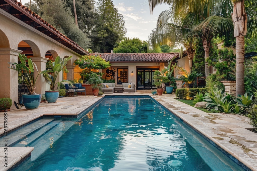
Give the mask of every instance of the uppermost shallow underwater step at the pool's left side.
M 20 142 L 21 140 L 26 139 L 33 133 L 37 132 L 37 130 L 45 127 L 47 124 L 49 124 L 53 120 L 54 120 L 53 118 L 40 119 L 40 120 L 38 120 L 34 123 L 31 123 L 21 129 L 18 129 L 17 131 L 13 132 L 10 135 L 7 135 L 6 137 L 8 137 L 8 146 L 11 147 L 14 144 L 16 144 L 17 142 Z M 4 146 L 3 141 L 0 141 L 0 146 L 2 146 L 2 147 Z

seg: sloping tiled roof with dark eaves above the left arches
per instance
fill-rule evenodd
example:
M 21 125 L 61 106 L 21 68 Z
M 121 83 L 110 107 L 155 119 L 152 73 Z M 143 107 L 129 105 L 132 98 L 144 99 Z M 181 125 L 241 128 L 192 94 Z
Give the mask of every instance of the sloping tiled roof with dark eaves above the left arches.
M 80 55 L 87 54 L 87 52 L 77 43 L 60 33 L 56 28 L 44 21 L 38 14 L 31 11 L 20 2 L 17 2 L 17 0 L 0 0 L 0 8 L 57 42 L 65 45 L 72 51 L 77 52 Z

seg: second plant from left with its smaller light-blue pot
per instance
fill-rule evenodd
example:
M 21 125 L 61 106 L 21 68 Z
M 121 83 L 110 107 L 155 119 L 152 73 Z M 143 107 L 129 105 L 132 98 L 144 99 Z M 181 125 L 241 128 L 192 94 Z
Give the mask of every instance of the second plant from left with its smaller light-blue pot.
M 53 67 L 52 70 L 45 70 L 42 73 L 44 74 L 44 77 L 49 81 L 50 84 L 50 90 L 45 91 L 45 98 L 47 99 L 48 103 L 56 103 L 58 97 L 59 97 L 59 90 L 54 90 L 54 87 L 59 83 L 56 83 L 56 79 L 59 76 L 59 73 L 62 71 L 63 67 L 67 64 L 67 62 L 70 60 L 72 56 L 65 58 L 62 60 L 60 56 L 57 56 L 55 59 L 55 62 L 52 63 Z M 49 73 L 54 73 L 54 76 L 52 76 Z

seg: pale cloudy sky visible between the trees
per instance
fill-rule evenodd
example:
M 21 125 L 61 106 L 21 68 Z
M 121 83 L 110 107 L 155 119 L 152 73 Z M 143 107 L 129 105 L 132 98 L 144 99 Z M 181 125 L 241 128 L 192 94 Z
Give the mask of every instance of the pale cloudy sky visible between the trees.
M 22 4 L 30 0 L 22 0 Z M 97 1 L 97 0 L 96 0 Z M 125 19 L 127 28 L 126 37 L 139 37 L 141 40 L 148 40 L 148 35 L 156 27 L 159 14 L 166 9 L 168 5 L 159 5 L 154 8 L 153 14 L 150 14 L 148 0 L 112 0 L 115 8 Z

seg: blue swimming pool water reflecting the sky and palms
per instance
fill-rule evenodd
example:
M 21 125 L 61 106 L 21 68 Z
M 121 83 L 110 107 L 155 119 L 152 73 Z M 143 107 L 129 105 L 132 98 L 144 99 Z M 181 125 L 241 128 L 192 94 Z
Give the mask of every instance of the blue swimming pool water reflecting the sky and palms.
M 35 148 L 19 171 L 242 170 L 149 96 L 108 96 L 78 120 L 37 122 L 47 124 L 13 144 Z

